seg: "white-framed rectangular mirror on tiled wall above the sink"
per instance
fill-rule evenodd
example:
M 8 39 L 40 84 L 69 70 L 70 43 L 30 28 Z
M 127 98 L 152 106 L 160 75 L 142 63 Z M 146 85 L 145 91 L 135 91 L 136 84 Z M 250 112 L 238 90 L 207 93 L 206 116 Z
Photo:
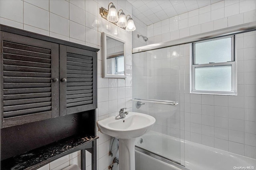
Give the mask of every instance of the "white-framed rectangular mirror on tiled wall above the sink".
M 102 32 L 102 77 L 126 78 L 125 41 Z

